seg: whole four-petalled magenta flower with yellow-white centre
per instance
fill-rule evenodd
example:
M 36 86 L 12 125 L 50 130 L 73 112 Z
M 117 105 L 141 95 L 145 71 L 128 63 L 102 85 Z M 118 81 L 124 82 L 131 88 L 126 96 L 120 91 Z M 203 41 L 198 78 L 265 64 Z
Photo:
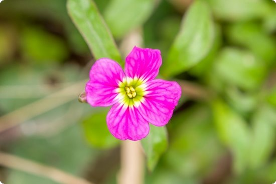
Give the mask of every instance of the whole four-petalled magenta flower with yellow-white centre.
M 90 70 L 86 84 L 91 106 L 110 106 L 106 121 L 111 134 L 121 140 L 140 140 L 149 123 L 166 125 L 181 96 L 177 82 L 155 79 L 162 64 L 159 50 L 134 47 L 125 59 L 125 70 L 102 58 Z

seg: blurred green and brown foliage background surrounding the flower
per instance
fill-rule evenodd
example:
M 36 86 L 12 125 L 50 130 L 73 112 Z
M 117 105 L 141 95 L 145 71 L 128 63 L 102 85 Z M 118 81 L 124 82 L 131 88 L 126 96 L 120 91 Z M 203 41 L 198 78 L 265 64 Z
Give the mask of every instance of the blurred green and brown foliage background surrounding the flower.
M 160 77 L 183 88 L 168 142 L 152 145 L 160 159 L 145 167 L 145 183 L 276 180 L 276 3 L 94 2 L 124 56 L 125 40 L 139 33 L 143 47 L 162 52 Z M 108 109 L 78 102 L 95 57 L 66 3 L 0 4 L 0 149 L 94 183 L 116 183 L 120 142 L 104 123 Z M 0 180 L 57 183 L 24 165 L 1 166 Z

